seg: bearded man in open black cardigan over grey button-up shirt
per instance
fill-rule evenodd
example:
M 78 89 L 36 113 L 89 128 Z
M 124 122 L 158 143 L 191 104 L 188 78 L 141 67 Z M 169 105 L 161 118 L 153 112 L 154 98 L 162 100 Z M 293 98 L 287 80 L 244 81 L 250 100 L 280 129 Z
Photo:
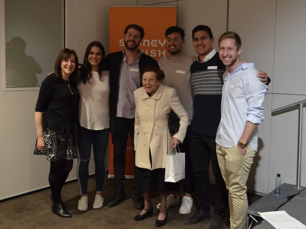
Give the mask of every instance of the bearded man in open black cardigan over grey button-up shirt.
M 109 207 L 116 206 L 125 200 L 126 142 L 130 133 L 134 150 L 135 101 L 133 92 L 142 86 L 140 71 L 147 65 L 158 67 L 156 60 L 138 49 L 143 37 L 144 29 L 141 26 L 128 25 L 123 34 L 124 49 L 116 53 L 110 53 L 106 57 L 106 64 L 110 72 L 110 132 L 114 144 L 114 180 L 116 186 L 116 194 L 108 202 Z M 136 185 L 135 177 L 132 199 L 136 209 L 143 209 L 144 202 Z

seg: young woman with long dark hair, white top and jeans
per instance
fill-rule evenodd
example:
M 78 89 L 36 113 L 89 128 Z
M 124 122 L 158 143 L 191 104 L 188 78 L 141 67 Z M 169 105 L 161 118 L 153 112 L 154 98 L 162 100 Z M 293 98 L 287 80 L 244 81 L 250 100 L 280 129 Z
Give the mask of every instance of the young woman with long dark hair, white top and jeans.
M 95 160 L 96 192 L 94 209 L 103 206 L 106 179 L 106 147 L 109 137 L 109 73 L 105 64 L 105 49 L 100 42 L 91 42 L 80 67 L 77 89 L 80 93 L 80 129 L 77 133 L 79 158 L 77 178 L 80 186 L 78 209 L 88 209 L 88 164 L 91 146 Z

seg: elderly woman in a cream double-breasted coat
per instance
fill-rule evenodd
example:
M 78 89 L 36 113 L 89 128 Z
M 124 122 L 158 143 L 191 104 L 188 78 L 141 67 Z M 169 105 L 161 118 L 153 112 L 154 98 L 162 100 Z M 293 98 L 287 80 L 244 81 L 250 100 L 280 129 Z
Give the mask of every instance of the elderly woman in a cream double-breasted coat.
M 154 66 L 147 66 L 140 75 L 143 87 L 134 91 L 135 112 L 135 176 L 144 192 L 144 209 L 134 217 L 143 220 L 153 215 L 150 192 L 157 187 L 160 197 L 160 211 L 155 226 L 166 223 L 168 213 L 166 198 L 169 188 L 165 179 L 165 161 L 168 151 L 183 142 L 188 126 L 188 115 L 181 105 L 176 91 L 162 85 L 164 72 Z M 167 130 L 167 114 L 170 110 L 180 118 L 180 129 L 171 137 Z M 167 145 L 168 135 L 168 145 Z

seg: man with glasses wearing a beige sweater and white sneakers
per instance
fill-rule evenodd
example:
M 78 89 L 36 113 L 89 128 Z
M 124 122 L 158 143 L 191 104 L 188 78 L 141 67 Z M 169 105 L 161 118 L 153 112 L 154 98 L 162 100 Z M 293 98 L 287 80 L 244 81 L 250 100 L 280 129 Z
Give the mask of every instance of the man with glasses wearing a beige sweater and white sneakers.
M 182 47 L 185 44 L 185 31 L 178 26 L 171 26 L 166 29 L 166 48 L 170 56 L 164 56 L 157 60 L 159 67 L 165 73 L 163 84 L 176 89 L 177 96 L 181 104 L 189 115 L 189 123 L 192 119 L 192 91 L 190 81 L 190 65 L 196 60 L 196 57 L 185 55 Z M 189 214 L 193 205 L 191 193 L 194 192 L 194 181 L 190 180 L 189 169 L 189 146 L 188 130 L 184 143 L 179 145 L 181 152 L 185 153 L 185 196 L 179 209 L 180 214 Z M 179 183 L 169 183 L 170 194 L 167 197 L 166 207 L 179 204 L 177 190 L 180 189 Z M 160 208 L 160 203 L 157 205 Z

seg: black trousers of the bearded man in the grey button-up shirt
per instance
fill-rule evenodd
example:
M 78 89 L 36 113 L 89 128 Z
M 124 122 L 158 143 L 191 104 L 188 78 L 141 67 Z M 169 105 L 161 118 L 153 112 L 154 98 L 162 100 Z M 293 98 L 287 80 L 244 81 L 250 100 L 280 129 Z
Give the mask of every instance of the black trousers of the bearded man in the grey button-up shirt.
M 129 133 L 132 138 L 135 168 L 134 122 L 135 118 L 110 118 L 110 132 L 112 133 L 112 142 L 114 144 L 114 180 L 117 192 L 124 191 L 126 142 Z M 140 194 L 136 183 L 136 176 L 134 176 L 133 193 Z

